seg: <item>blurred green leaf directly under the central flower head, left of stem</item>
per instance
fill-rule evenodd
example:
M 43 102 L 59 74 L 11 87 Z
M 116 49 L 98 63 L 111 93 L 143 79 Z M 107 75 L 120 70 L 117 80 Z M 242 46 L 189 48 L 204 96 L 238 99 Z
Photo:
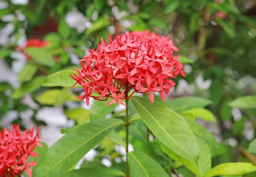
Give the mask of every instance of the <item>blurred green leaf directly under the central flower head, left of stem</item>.
M 90 110 L 90 120 L 103 119 L 106 115 L 110 114 L 115 108 L 116 104 L 107 106 L 106 101 L 94 100 Z

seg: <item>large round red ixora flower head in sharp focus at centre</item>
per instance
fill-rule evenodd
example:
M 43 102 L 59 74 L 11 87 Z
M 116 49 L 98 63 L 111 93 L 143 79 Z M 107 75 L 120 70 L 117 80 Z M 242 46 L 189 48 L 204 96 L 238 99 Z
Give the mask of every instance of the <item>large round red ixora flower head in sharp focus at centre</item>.
M 84 87 L 84 94 L 78 99 L 89 97 L 96 100 L 113 98 L 113 103 L 122 104 L 134 93 L 146 93 L 151 103 L 154 102 L 152 92 L 160 91 L 160 97 L 165 100 L 169 90 L 175 85 L 172 78 L 181 74 L 183 64 L 179 63 L 178 51 L 169 37 L 142 32 L 126 32 L 114 40 L 109 35 L 109 44 L 101 39 L 97 50 L 89 50 L 89 54 L 80 60 L 82 69 L 76 69 L 78 74 L 70 75 Z M 98 96 L 97 96 L 98 94 Z

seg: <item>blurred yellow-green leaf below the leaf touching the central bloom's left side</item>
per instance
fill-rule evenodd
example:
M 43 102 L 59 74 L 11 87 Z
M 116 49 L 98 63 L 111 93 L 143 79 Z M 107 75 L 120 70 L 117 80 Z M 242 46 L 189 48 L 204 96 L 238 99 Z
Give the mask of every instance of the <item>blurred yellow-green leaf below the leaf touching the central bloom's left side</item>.
M 63 91 L 65 94 L 63 94 Z M 70 94 L 70 89 L 51 89 L 44 91 L 40 96 L 35 97 L 39 103 L 44 105 L 56 105 L 60 106 L 67 100 L 77 101 L 79 100 L 76 98 L 75 94 Z M 60 98 L 61 97 L 61 98 Z

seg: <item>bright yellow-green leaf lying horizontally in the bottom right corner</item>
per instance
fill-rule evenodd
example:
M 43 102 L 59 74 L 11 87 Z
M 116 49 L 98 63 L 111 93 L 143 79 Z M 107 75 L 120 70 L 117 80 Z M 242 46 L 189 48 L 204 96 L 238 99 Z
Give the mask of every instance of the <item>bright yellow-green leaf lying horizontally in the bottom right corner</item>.
M 222 163 L 204 174 L 204 177 L 214 177 L 219 175 L 243 175 L 253 171 L 256 171 L 256 166 L 253 166 L 251 163 Z

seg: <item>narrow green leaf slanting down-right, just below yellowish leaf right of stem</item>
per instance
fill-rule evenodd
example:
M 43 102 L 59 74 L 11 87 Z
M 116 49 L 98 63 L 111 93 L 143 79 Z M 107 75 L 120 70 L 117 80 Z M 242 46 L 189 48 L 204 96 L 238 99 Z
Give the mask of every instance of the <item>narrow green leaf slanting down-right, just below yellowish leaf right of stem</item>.
M 196 136 L 201 137 L 202 139 L 204 139 L 208 143 L 211 143 L 214 146 L 217 145 L 215 137 L 207 129 L 187 117 L 183 117 L 183 119 L 186 121 L 186 123 L 189 125 L 189 128 Z

